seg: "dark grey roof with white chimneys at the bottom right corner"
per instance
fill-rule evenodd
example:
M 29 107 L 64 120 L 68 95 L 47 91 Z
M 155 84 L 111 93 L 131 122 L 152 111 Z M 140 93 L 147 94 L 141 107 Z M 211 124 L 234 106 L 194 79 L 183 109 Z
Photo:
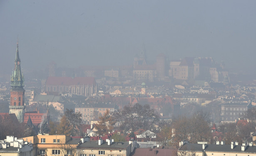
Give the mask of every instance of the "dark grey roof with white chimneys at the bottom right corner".
M 245 151 L 241 151 L 241 145 L 234 145 L 231 149 L 231 145 L 216 145 L 207 144 L 206 148 L 203 150 L 202 144 L 184 144 L 179 150 L 181 151 L 223 151 L 223 152 L 249 152 L 256 153 L 256 146 L 247 146 Z

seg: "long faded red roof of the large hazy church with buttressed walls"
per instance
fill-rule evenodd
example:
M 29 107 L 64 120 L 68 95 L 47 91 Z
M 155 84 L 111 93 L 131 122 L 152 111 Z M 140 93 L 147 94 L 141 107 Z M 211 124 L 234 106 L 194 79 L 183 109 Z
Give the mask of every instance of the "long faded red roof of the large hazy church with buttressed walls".
M 48 77 L 46 85 L 96 85 L 93 77 Z

